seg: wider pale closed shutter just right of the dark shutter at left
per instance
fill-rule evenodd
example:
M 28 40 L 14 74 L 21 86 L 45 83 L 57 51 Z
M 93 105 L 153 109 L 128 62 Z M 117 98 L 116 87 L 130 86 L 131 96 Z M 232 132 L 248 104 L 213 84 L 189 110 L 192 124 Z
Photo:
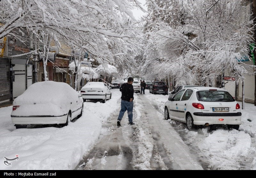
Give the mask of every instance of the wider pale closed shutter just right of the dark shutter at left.
M 16 64 L 12 70 L 15 72 L 15 81 L 13 82 L 13 98 L 15 98 L 26 90 L 26 65 Z

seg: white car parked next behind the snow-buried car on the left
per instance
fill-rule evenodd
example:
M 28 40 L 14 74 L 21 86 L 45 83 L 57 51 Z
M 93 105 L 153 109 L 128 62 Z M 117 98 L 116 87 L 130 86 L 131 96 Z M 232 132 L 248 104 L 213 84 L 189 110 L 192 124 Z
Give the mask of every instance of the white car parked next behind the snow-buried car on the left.
M 102 103 L 105 103 L 107 100 L 111 99 L 112 93 L 106 83 L 98 82 L 98 81 L 91 81 L 86 83 L 82 89 L 81 93 L 84 99 L 88 100 L 100 100 Z

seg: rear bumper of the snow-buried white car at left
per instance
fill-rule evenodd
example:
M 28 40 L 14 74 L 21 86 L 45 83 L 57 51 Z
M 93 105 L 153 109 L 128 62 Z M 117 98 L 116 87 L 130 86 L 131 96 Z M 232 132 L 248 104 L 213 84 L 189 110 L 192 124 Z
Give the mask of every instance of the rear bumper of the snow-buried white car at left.
M 67 122 L 68 114 L 64 114 L 61 116 L 13 116 L 12 123 L 13 124 L 64 124 Z

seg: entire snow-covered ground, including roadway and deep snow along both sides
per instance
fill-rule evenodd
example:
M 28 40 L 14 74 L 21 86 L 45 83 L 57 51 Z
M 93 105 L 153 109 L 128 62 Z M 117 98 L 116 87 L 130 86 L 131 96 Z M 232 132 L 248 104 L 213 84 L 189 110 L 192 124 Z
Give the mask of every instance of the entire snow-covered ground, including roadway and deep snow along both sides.
M 239 130 L 200 128 L 164 120 L 167 95 L 134 94 L 133 122 L 127 112 L 116 126 L 121 92 L 106 103 L 86 101 L 81 118 L 68 126 L 16 129 L 12 106 L 0 108 L 2 170 L 256 170 L 256 107 L 245 105 Z M 4 157 L 13 159 L 10 166 Z M 111 163 L 111 164 L 110 164 Z M 120 164 L 121 163 L 121 164 Z

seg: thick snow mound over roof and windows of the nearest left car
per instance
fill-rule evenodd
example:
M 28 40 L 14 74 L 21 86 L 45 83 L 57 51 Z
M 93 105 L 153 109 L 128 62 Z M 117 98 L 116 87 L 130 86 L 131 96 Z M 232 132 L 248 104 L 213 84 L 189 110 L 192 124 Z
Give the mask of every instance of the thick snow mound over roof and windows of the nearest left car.
M 77 91 L 64 82 L 40 81 L 28 87 L 13 102 L 19 104 L 62 104 L 77 98 Z

